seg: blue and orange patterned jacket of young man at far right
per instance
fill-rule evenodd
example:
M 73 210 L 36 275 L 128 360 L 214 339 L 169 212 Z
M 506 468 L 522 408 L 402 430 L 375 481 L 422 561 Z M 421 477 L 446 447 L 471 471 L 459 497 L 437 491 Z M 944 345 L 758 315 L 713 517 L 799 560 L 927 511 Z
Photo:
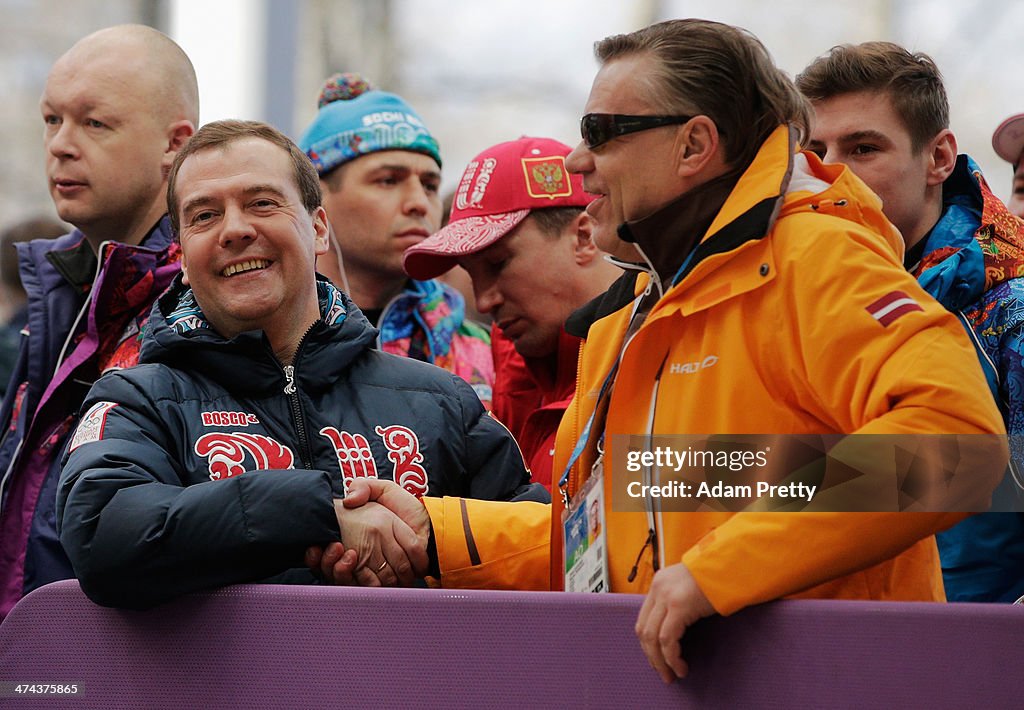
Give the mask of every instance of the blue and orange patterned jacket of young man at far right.
M 1024 222 L 966 155 L 943 183 L 942 199 L 942 217 L 926 237 L 914 276 L 974 337 L 1006 419 L 1012 465 L 1024 471 L 1017 438 L 1024 434 Z M 1022 498 L 1008 475 L 993 509 L 1019 510 Z M 936 539 L 951 601 L 1014 601 L 1024 594 L 1024 514 L 975 515 Z

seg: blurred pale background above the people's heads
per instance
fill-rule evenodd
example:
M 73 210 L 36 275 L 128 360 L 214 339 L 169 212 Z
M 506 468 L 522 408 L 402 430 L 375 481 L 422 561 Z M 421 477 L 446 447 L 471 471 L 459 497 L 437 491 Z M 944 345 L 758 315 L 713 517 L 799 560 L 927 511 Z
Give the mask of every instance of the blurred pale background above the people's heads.
M 38 101 L 50 65 L 121 23 L 173 37 L 199 75 L 202 121 L 268 121 L 298 137 L 324 78 L 356 71 L 406 97 L 441 144 L 454 187 L 481 149 L 522 134 L 573 144 L 595 40 L 697 16 L 756 34 L 795 75 L 844 42 L 928 52 L 945 76 L 952 129 L 1000 198 L 1011 167 L 992 130 L 1024 112 L 1024 3 L 1016 0 L 0 0 L 0 224 L 52 215 Z

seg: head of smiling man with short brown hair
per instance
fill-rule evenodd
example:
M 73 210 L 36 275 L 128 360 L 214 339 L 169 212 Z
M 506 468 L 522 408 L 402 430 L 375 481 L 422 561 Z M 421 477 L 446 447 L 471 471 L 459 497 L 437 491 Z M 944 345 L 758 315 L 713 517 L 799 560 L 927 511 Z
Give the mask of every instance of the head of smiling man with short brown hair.
M 272 126 L 216 121 L 178 152 L 168 196 L 182 283 L 209 323 L 227 338 L 262 330 L 291 362 L 319 318 L 328 226 L 312 163 Z

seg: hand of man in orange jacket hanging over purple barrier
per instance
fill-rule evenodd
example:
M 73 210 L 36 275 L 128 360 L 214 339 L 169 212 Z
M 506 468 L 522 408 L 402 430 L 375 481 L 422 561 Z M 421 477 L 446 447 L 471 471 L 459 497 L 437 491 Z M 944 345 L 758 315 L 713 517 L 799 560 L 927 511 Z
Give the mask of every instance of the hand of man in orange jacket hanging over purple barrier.
M 686 677 L 689 667 L 680 641 L 693 622 L 713 614 L 715 608 L 685 565 L 673 565 L 654 574 L 640 608 L 636 633 L 647 662 L 662 680 L 671 683 Z

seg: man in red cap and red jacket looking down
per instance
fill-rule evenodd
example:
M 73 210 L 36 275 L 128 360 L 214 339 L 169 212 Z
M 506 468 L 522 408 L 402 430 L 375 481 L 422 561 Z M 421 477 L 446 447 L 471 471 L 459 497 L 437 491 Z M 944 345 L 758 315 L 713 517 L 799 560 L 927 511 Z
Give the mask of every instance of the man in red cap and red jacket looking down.
M 534 481 L 549 488 L 555 432 L 592 320 L 591 309 L 573 311 L 622 274 L 591 239 L 584 208 L 593 197 L 565 169 L 569 151 L 534 137 L 483 151 L 459 181 L 447 226 L 404 255 L 414 279 L 456 264 L 469 273 L 477 309 L 495 322 L 494 414 L 519 442 Z

